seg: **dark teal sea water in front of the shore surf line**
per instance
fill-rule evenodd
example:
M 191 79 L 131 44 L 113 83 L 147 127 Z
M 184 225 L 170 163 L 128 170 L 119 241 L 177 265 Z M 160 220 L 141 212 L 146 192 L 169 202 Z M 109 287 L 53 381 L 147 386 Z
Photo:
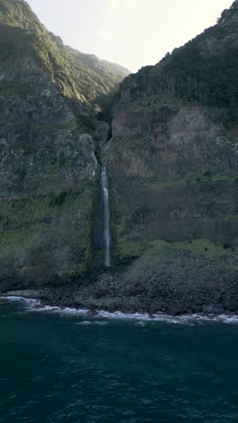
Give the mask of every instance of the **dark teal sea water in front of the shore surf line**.
M 238 324 L 0 304 L 0 421 L 238 422 Z

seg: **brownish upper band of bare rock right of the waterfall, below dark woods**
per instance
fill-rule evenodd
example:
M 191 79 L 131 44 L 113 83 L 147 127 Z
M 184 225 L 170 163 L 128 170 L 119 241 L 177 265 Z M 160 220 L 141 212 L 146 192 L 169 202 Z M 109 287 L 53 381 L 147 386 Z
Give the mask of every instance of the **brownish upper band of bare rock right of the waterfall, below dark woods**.
M 113 134 L 112 172 L 119 165 L 120 173 L 128 177 L 166 180 L 207 171 L 235 174 L 237 170 L 237 146 L 224 140 L 221 128 L 202 108 L 119 111 L 114 116 Z M 124 154 L 125 164 L 117 153 Z

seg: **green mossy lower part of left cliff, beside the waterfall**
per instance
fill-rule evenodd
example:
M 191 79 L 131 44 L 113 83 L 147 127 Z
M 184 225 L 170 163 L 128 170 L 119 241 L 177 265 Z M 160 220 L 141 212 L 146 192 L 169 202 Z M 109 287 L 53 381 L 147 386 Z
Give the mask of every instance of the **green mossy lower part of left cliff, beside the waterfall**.
M 91 259 L 94 190 L 95 186 L 88 184 L 78 193 L 1 200 L 0 260 L 11 255 L 15 261 L 31 264 L 33 256 L 42 266 L 51 261 L 50 267 L 58 274 L 64 266 L 72 274 L 86 271 Z M 66 250 L 67 257 L 56 257 L 54 263 L 54 250 L 62 255 Z

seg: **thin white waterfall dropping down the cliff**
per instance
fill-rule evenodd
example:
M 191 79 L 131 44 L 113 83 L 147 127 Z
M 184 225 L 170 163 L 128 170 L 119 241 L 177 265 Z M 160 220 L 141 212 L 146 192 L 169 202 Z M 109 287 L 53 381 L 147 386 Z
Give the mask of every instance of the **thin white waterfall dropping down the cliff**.
M 110 234 L 110 209 L 109 209 L 109 183 L 108 173 L 105 166 L 101 169 L 101 191 L 103 204 L 103 247 L 104 264 L 107 268 L 111 267 L 111 234 Z

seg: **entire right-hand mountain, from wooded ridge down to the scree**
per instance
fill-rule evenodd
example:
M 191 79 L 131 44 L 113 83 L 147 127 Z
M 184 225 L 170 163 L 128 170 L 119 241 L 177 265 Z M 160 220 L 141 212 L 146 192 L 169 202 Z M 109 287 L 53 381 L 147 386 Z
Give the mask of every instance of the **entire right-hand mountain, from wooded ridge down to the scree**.
M 143 266 L 150 279 L 154 261 L 159 269 L 169 260 L 158 283 L 174 279 L 174 267 L 178 279 L 188 280 L 189 268 L 200 272 L 205 256 L 207 280 L 231 269 L 233 280 L 237 24 L 235 1 L 214 27 L 126 78 L 114 101 L 113 137 L 104 151 L 114 189 L 114 256 L 125 262 L 138 258 L 139 278 Z

